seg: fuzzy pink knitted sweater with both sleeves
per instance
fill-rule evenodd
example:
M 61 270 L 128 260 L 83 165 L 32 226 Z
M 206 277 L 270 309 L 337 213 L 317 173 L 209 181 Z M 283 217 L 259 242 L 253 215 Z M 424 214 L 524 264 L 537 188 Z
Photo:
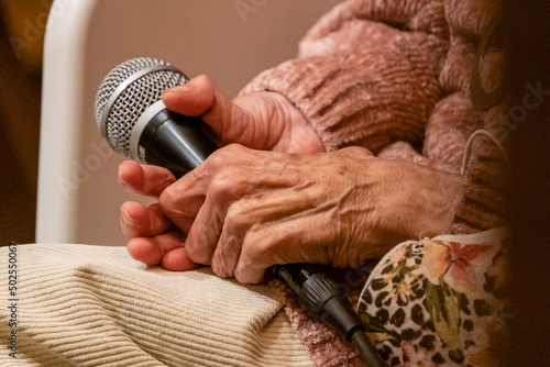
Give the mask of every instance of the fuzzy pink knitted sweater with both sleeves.
M 308 32 L 296 59 L 262 73 L 242 93 L 285 96 L 327 151 L 356 145 L 381 158 L 461 173 L 453 233 L 504 225 L 502 149 L 476 134 L 465 154 L 475 131 L 486 130 L 504 144 L 509 132 L 504 103 L 479 111 L 471 101 L 476 49 L 498 5 L 491 0 L 348 0 Z M 498 87 L 502 59 L 498 48 L 487 48 L 474 75 L 488 92 Z M 287 313 L 319 366 L 360 364 L 284 294 Z

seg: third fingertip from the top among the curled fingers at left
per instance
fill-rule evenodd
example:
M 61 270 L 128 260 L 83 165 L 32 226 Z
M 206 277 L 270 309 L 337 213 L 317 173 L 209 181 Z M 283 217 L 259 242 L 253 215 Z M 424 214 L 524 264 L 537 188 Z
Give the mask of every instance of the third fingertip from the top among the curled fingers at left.
M 163 257 L 176 249 L 184 247 L 185 235 L 173 230 L 153 237 L 135 237 L 128 242 L 127 249 L 130 255 L 144 264 L 161 264 Z

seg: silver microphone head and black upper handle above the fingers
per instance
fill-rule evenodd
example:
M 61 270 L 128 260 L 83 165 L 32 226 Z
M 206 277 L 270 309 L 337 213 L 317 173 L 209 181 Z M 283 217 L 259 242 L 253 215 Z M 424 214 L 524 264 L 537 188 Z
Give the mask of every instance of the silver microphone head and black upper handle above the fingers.
M 99 86 L 96 122 L 117 153 L 156 165 L 182 177 L 220 147 L 215 132 L 200 118 L 166 109 L 165 89 L 188 78 L 168 63 L 140 57 L 120 64 Z

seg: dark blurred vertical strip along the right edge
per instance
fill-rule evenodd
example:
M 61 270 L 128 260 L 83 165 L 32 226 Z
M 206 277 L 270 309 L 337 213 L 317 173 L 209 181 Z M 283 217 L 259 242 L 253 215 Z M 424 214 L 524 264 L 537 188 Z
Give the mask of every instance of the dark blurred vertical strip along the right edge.
M 510 91 L 527 82 L 550 90 L 550 1 L 510 0 Z M 507 366 L 550 366 L 550 97 L 512 135 L 509 218 L 513 297 Z

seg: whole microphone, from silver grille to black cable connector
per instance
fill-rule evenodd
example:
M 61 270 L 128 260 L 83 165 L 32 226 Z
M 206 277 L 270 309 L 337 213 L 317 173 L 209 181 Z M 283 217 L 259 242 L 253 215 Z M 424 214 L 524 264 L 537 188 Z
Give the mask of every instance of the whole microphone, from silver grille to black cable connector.
M 200 118 L 172 112 L 162 101 L 163 90 L 187 81 L 182 71 L 156 58 L 130 59 L 112 69 L 99 86 L 95 105 L 96 122 L 111 148 L 129 159 L 165 167 L 176 178 L 198 167 L 220 147 L 215 132 Z M 276 265 L 272 273 L 351 341 L 370 367 L 384 366 L 341 287 L 323 267 Z

